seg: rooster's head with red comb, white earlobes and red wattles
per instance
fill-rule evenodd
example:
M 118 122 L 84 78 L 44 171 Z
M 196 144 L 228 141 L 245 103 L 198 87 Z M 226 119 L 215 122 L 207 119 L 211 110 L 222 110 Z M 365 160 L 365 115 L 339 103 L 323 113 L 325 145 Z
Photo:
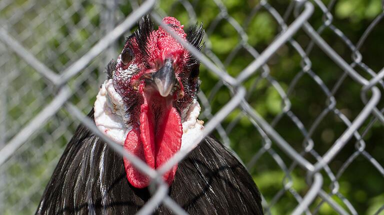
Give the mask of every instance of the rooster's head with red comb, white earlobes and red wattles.
M 185 33 L 174 17 L 163 18 L 182 39 L 197 49 L 204 34 L 202 25 Z M 149 16 L 127 38 L 116 61 L 107 66 L 108 79 L 94 104 L 96 126 L 124 149 L 156 169 L 201 135 L 197 119 L 199 62 L 165 29 L 154 30 Z M 124 159 L 129 183 L 147 187 L 150 180 Z M 172 183 L 177 165 L 163 175 Z

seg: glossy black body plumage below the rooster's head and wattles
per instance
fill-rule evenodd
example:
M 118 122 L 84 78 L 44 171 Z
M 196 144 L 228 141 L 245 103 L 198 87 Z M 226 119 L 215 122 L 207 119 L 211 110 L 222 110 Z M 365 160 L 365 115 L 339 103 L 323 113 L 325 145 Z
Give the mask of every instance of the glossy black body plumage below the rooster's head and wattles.
M 93 118 L 93 111 L 88 115 Z M 240 162 L 205 138 L 182 162 L 169 196 L 192 215 L 261 215 L 257 188 Z M 150 198 L 127 181 L 121 156 L 80 125 L 61 156 L 36 214 L 135 214 Z M 154 214 L 172 214 L 160 206 Z

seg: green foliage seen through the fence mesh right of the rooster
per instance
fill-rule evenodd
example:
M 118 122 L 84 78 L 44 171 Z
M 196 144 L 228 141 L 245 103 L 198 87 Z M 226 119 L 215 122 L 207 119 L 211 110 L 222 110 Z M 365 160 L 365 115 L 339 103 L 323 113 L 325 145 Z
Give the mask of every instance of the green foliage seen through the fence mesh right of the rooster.
M 252 8 L 258 3 L 255 0 L 223 0 L 227 12 L 240 25 L 244 24 L 251 13 Z M 288 6 L 288 1 L 270 0 L 268 1 L 281 15 Z M 329 1 L 325 0 L 325 4 Z M 167 5 L 171 5 L 171 1 L 161 1 L 160 7 L 165 11 L 169 11 Z M 204 1 L 204 3 L 196 4 L 195 12 L 198 21 L 204 23 L 207 28 L 216 17 L 219 9 L 213 1 Z M 356 44 L 369 23 L 382 12 L 382 4 L 380 0 L 339 0 L 336 1 L 331 9 L 333 14 L 333 24 L 339 28 L 351 41 Z M 182 23 L 188 23 L 188 14 L 179 7 L 173 8 L 170 15 L 177 17 Z M 322 12 L 319 8 L 315 8 L 315 12 L 310 18 L 310 23 L 314 28 L 322 24 Z M 293 20 L 293 17 L 288 19 L 288 24 Z M 378 72 L 383 67 L 382 55 L 380 50 L 384 48 L 383 39 L 384 31 L 382 30 L 384 23 L 381 21 L 367 38 L 361 48 L 363 62 L 366 63 L 375 72 Z M 258 52 L 264 50 L 267 45 L 273 41 L 275 36 L 280 31 L 279 25 L 274 18 L 266 11 L 261 9 L 251 19 L 246 28 L 244 28 L 248 36 L 247 43 L 254 47 Z M 238 45 L 240 37 L 237 31 L 225 20 L 220 21 L 216 28 L 209 33 L 208 39 L 211 45 L 212 52 L 224 62 L 229 53 Z M 340 54 L 348 63 L 352 62 L 351 50 L 339 39 L 334 32 L 326 29 L 321 36 L 325 41 Z M 309 38 L 302 30 L 294 36 L 294 39 L 305 48 L 308 45 Z M 335 65 L 329 57 L 327 57 L 321 49 L 314 47 L 310 52 L 310 60 L 312 62 L 312 70 L 317 74 L 324 84 L 331 89 L 343 71 Z M 241 49 L 233 61 L 225 65 L 227 72 L 236 76 L 244 69 L 254 58 Z M 293 77 L 300 71 L 301 58 L 292 46 L 285 44 L 275 55 L 268 61 L 270 75 L 275 78 L 282 88 L 286 91 Z M 360 74 L 369 78 L 363 70 L 358 70 Z M 250 89 L 255 78 L 244 83 L 247 89 Z M 201 89 L 209 94 L 212 89 L 212 84 L 217 81 L 208 71 L 202 66 L 200 79 L 202 80 Z M 359 111 L 364 106 L 359 99 L 361 86 L 356 84 L 352 79 L 347 77 L 342 86 L 335 93 L 336 107 L 347 116 L 349 120 L 353 120 Z M 291 101 L 291 110 L 308 129 L 314 122 L 320 112 L 326 108 L 326 96 L 321 91 L 320 87 L 308 75 L 303 75 L 289 95 Z M 219 110 L 229 100 L 229 93 L 225 87 L 220 88 L 217 95 L 209 100 L 213 112 Z M 261 80 L 255 87 L 255 90 L 249 95 L 249 103 L 255 110 L 263 116 L 269 123 L 272 119 L 282 111 L 281 98 L 277 91 L 264 79 Z M 233 111 L 222 124 L 225 128 L 229 123 L 236 119 L 240 114 L 240 110 Z M 240 114 L 240 120 L 237 126 L 231 130 L 229 138 L 231 147 L 243 159 L 245 163 L 249 162 L 251 157 L 261 147 L 262 139 L 257 130 L 253 127 L 248 117 Z M 364 126 L 367 124 L 365 122 Z M 359 130 L 363 130 L 364 126 Z M 284 116 L 275 126 L 276 131 L 297 151 L 303 151 L 302 141 L 303 136 L 292 123 L 292 121 Z M 342 134 L 346 126 L 333 113 L 328 113 L 322 120 L 318 128 L 312 135 L 315 143 L 314 150 L 320 155 L 323 155 L 333 142 Z M 384 147 L 381 144 L 383 138 L 382 126 L 376 123 L 368 134 L 364 137 L 367 143 L 366 151 L 369 152 L 382 165 L 384 164 Z M 218 136 L 218 134 L 216 134 Z M 348 142 L 348 145 L 330 164 L 330 169 L 336 173 L 347 158 L 355 151 L 355 139 Z M 289 166 L 292 162 L 288 159 L 280 149 L 272 144 L 272 149 L 281 156 L 285 165 Z M 306 159 L 315 162 L 312 156 L 305 155 Z M 272 157 L 265 153 L 257 161 L 251 169 L 251 174 L 254 177 L 261 193 L 266 201 L 270 203 L 274 195 L 282 189 L 284 173 L 276 165 Z M 305 184 L 305 174 L 302 170 L 295 169 L 291 173 L 292 188 L 301 196 L 303 196 L 308 187 Z M 376 212 L 384 205 L 384 180 L 383 176 L 375 170 L 372 165 L 367 162 L 362 156 L 352 162 L 346 169 L 345 173 L 339 179 L 339 192 L 348 199 L 355 207 L 358 214 L 370 215 Z M 324 174 L 323 189 L 329 192 L 330 180 Z M 343 205 L 340 198 L 333 196 L 333 199 Z M 315 203 L 319 203 L 317 199 Z M 271 208 L 272 214 L 286 214 L 294 209 L 296 201 L 293 196 L 287 192 L 282 198 Z M 345 206 L 344 206 L 345 208 Z M 312 207 L 313 209 L 313 207 Z M 331 210 L 327 204 L 323 204 L 319 209 L 320 214 L 337 214 Z

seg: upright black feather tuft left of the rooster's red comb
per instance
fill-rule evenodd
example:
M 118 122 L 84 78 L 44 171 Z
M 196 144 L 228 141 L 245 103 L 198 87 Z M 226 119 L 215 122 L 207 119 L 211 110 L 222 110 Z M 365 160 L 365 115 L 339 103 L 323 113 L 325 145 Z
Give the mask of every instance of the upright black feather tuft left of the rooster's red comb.
M 153 22 L 150 20 L 149 14 L 146 14 L 142 17 L 141 21 L 138 23 L 137 30 L 133 33 L 136 38 L 138 48 L 144 56 L 149 56 L 147 43 L 152 31 Z

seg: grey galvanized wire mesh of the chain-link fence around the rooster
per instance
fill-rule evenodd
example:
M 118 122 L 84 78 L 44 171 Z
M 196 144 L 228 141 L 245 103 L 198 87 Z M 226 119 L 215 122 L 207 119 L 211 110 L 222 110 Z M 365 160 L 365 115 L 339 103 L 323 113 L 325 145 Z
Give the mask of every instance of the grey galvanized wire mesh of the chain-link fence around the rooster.
M 382 20 L 384 10 L 366 27 L 358 42 L 353 44 L 332 23 L 334 0 L 327 5 L 321 0 L 293 0 L 283 13 L 279 13 L 268 1 L 260 0 L 247 14 L 244 23 L 238 23 L 228 13 L 221 0 L 212 1 L 218 13 L 214 21 L 205 26 L 205 47 L 199 52 L 161 23 L 161 17 L 166 15 L 166 11 L 163 11 L 155 0 L 145 0 L 141 3 L 131 1 L 129 6 L 133 10 L 127 15 L 118 9 L 125 2 L 117 0 L 95 0 L 91 3 L 82 0 L 70 3 L 59 0 L 49 3 L 38 0 L 25 0 L 23 3 L 0 0 L 0 209 L 4 214 L 34 212 L 44 183 L 49 179 L 65 147 L 64 144 L 55 143 L 68 142 L 73 128 L 78 123 L 87 126 L 117 153 L 129 159 L 136 168 L 153 179 L 154 183 L 150 189 L 152 198 L 138 214 L 150 214 L 160 204 L 175 214 L 186 214 L 167 196 L 168 188 L 162 181 L 161 174 L 185 158 L 199 143 L 198 138 L 193 146 L 176 153 L 162 167 L 153 170 L 134 155 L 124 151 L 120 145 L 109 140 L 84 115 L 89 111 L 97 88 L 105 78 L 102 68 L 109 59 L 117 56 L 119 39 L 122 35 L 129 34 L 135 23 L 146 13 L 198 58 L 218 80 L 211 84 L 212 89 L 208 95 L 203 91 L 198 95 L 203 107 L 201 117 L 206 119 L 204 135 L 216 131 L 223 143 L 229 146 L 231 130 L 239 124 L 243 116 L 246 116 L 262 140 L 261 143 L 257 143 L 259 148 L 249 160 L 247 168 L 252 169 L 256 163 L 262 162 L 262 156 L 268 155 L 283 172 L 284 178 L 280 190 L 269 201 L 263 198 L 266 214 L 271 213 L 284 195 L 291 195 L 295 205 L 295 208 L 286 213 L 318 214 L 321 206 L 326 204 L 338 214 L 358 214 L 350 201 L 340 192 L 339 183 L 340 177 L 357 157 L 366 159 L 384 178 L 383 164 L 377 162 L 370 152 L 365 150 L 365 146 L 370 143 L 364 141 L 364 136 L 372 126 L 378 124 L 382 127 L 384 124 L 382 114 L 384 109 L 379 105 L 382 101 L 380 89 L 384 89 L 382 81 L 384 68 L 379 71 L 369 68 L 360 53 L 372 29 Z M 187 12 L 189 24 L 193 24 L 197 20 L 196 5 L 204 4 L 204 1 L 175 0 L 172 7 L 178 4 Z M 249 30 L 250 20 L 261 10 L 273 17 L 279 26 L 279 32 L 263 51 L 258 52 L 249 44 L 246 32 Z M 308 21 L 314 10 L 322 13 L 322 24 L 316 29 Z M 78 16 L 78 20 L 71 20 L 73 14 Z M 209 40 L 209 35 L 222 21 L 233 27 L 239 40 L 225 61 L 220 61 L 215 55 Z M 340 39 L 350 49 L 352 62 L 346 62 L 322 38 L 324 30 L 330 30 L 334 33 L 334 37 Z M 68 36 L 62 37 L 60 31 L 68 31 Z M 82 34 L 85 36 L 78 41 L 77 38 Z M 305 47 L 297 42 L 297 35 L 309 38 Z M 81 44 L 76 45 L 76 42 Z M 48 43 L 51 45 L 46 45 Z M 291 47 L 301 58 L 300 69 L 287 86 L 281 85 L 279 77 L 273 76 L 268 66 L 268 60 L 284 45 Z M 329 84 L 320 78 L 320 74 L 312 70 L 312 62 L 316 59 L 311 58 L 310 54 L 314 46 L 319 47 L 329 58 L 329 62 L 343 71 L 333 86 L 329 87 Z M 250 54 L 253 61 L 238 74 L 231 75 L 226 68 L 234 63 L 233 60 L 240 51 Z M 364 75 L 357 70 L 362 70 Z M 291 94 L 303 76 L 309 77 L 326 97 L 324 109 L 309 126 L 305 126 L 301 121 L 299 113 L 292 108 L 291 101 Z M 364 104 L 359 114 L 352 119 L 336 106 L 335 93 L 347 78 L 361 87 L 361 93 L 356 95 L 356 98 L 359 96 Z M 245 87 L 245 83 L 249 80 L 252 80 L 251 87 Z M 281 100 L 281 112 L 272 120 L 264 119 L 249 103 L 249 97 L 261 81 L 265 81 L 275 90 Z M 226 88 L 230 99 L 220 110 L 212 112 L 210 102 L 221 88 Z M 237 112 L 234 119 L 224 127 L 223 120 L 235 109 L 241 111 Z M 345 131 L 321 155 L 315 150 L 316 143 L 312 137 L 328 114 L 343 123 Z M 283 118 L 288 118 L 292 123 L 289 126 L 295 126 L 301 133 L 301 147 L 280 135 L 279 127 L 276 125 Z M 360 129 L 364 123 L 364 128 Z M 355 140 L 355 152 L 334 172 L 329 166 L 330 163 L 347 144 L 350 144 L 351 139 Z M 286 158 L 290 160 L 289 165 L 286 164 Z M 32 175 L 30 171 L 23 171 L 39 165 L 43 165 L 43 171 L 41 168 L 36 169 L 32 171 Z M 303 173 L 300 177 L 305 180 L 304 195 L 293 187 L 292 172 L 297 170 Z M 330 181 L 329 187 L 324 184 L 325 180 Z M 12 188 L 18 189 L 15 191 Z M 335 197 L 338 201 L 335 201 Z M 384 204 L 375 211 L 375 214 L 383 210 Z

